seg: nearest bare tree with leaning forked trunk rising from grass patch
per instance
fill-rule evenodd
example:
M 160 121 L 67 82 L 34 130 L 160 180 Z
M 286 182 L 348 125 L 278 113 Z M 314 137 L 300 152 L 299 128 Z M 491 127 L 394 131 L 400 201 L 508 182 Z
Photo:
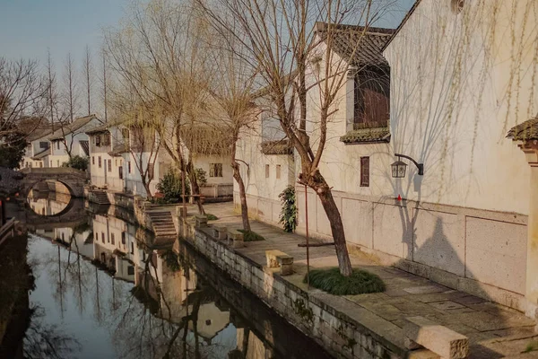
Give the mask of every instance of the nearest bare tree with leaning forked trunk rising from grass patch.
M 345 22 L 363 24 L 365 33 L 383 12 L 382 1 L 340 0 L 215 0 L 204 7 L 213 27 L 250 49 L 247 60 L 259 68 L 265 92 L 283 132 L 299 154 L 299 183 L 317 194 L 331 225 L 340 271 L 351 275 L 343 222 L 330 185 L 319 171 L 327 141 L 327 123 L 351 64 L 337 57 L 333 43 Z M 317 23 L 324 26 L 319 30 Z M 354 37 L 358 50 L 360 35 Z M 320 46 L 322 43 L 325 46 Z M 325 66 L 309 76 L 310 60 L 321 56 Z M 312 78 L 315 77 L 315 78 Z M 308 112 L 308 92 L 318 97 L 317 109 Z M 307 120 L 308 118 L 308 120 Z

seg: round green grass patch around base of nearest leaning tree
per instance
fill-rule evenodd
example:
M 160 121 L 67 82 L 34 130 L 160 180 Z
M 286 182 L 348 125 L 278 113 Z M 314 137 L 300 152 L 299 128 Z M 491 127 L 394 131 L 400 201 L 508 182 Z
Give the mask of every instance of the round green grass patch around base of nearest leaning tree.
M 303 279 L 303 283 L 307 283 L 307 276 Z M 334 295 L 385 291 L 385 283 L 378 276 L 360 269 L 353 269 L 351 276 L 342 276 L 337 267 L 311 270 L 310 285 Z

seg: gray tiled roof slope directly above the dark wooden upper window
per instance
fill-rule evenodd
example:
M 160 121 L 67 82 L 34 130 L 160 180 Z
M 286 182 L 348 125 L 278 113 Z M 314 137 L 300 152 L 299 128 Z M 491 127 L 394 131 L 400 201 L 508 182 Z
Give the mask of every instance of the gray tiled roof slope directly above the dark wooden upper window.
M 332 25 L 332 47 L 340 57 L 352 66 L 388 67 L 383 48 L 392 37 L 394 29 L 363 27 L 355 25 Z M 316 23 L 317 34 L 327 41 L 327 24 Z

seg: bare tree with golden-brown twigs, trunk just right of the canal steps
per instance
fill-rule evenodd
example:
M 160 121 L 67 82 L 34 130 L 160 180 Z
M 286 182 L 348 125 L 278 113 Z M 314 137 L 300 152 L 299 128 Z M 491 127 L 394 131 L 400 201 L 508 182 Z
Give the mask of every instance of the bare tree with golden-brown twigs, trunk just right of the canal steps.
M 144 108 L 159 113 L 161 122 L 154 125 L 161 146 L 199 195 L 192 151 L 185 151 L 189 134 L 182 127 L 197 120 L 209 95 L 210 74 L 197 42 L 204 27 L 191 15 L 187 5 L 169 0 L 136 3 L 121 28 L 105 33 L 105 48 L 115 87 L 134 89 Z M 199 197 L 196 202 L 204 213 Z

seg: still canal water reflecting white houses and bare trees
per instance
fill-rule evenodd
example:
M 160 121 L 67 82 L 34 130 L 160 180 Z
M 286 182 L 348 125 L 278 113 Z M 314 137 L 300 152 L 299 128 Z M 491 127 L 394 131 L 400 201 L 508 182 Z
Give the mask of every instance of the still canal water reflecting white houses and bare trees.
M 1 254 L 26 263 L 0 293 L 23 295 L 0 313 L 0 357 L 330 357 L 187 243 L 154 238 L 121 208 L 73 201 L 34 192 L 19 212 L 30 232 Z

